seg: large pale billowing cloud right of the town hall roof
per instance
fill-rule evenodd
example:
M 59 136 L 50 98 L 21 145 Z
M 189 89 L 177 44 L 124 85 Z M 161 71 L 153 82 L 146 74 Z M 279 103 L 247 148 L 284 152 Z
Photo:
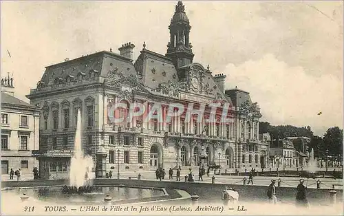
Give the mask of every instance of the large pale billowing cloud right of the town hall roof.
M 250 91 L 261 107 L 262 120 L 272 125 L 310 125 L 319 135 L 328 127 L 343 125 L 343 89 L 336 76 L 311 76 L 303 67 L 290 67 L 273 54 L 228 64 L 224 74 L 226 87 Z

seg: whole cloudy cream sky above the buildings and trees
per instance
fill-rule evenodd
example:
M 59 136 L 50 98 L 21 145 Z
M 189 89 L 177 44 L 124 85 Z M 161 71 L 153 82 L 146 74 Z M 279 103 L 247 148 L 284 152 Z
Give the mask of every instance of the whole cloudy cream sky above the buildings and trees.
M 177 1 L 1 1 L 1 76 L 22 100 L 45 67 L 123 43 L 166 53 Z M 250 91 L 262 121 L 343 125 L 342 1 L 183 1 L 194 62 Z M 8 51 L 10 55 L 8 54 Z M 10 57 L 11 56 L 11 57 Z M 321 112 L 321 115 L 317 115 Z

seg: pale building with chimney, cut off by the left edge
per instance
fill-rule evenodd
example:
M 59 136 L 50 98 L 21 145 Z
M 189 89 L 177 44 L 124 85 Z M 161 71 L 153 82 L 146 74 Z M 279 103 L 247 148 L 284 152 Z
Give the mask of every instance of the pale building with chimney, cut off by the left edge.
M 39 149 L 41 109 L 14 97 L 13 78 L 1 79 L 1 173 L 21 168 L 32 173 L 39 162 L 32 151 Z

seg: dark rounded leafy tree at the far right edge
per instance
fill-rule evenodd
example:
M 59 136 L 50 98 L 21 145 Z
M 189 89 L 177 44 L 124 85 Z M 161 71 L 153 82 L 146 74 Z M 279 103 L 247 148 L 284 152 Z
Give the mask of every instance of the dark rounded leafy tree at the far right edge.
M 331 127 L 327 129 L 323 136 L 325 149 L 328 149 L 328 155 L 334 156 L 338 160 L 343 155 L 343 130 L 339 127 Z

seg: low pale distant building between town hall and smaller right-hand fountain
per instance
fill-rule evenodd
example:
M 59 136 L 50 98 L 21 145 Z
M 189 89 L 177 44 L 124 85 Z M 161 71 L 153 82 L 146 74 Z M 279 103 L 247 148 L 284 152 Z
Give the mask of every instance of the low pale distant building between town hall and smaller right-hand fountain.
M 305 166 L 308 156 L 294 148 L 291 140 L 272 140 L 270 164 L 277 168 Z

